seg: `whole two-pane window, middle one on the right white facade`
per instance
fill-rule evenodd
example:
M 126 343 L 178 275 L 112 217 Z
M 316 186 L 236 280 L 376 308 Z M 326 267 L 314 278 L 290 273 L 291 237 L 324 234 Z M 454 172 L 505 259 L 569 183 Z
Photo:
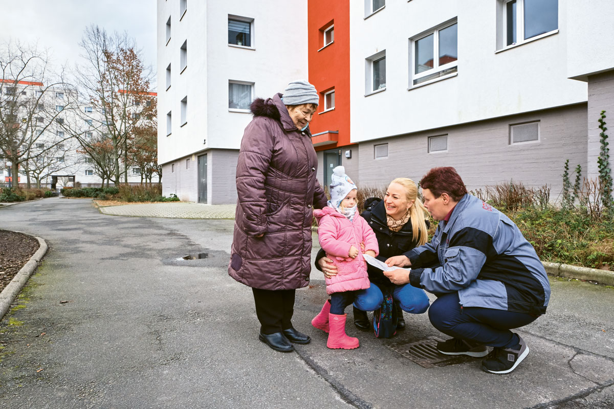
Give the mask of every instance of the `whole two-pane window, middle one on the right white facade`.
M 458 60 L 458 24 L 446 23 L 439 28 L 410 39 L 413 58 L 413 82 L 418 85 L 437 78 L 456 75 Z

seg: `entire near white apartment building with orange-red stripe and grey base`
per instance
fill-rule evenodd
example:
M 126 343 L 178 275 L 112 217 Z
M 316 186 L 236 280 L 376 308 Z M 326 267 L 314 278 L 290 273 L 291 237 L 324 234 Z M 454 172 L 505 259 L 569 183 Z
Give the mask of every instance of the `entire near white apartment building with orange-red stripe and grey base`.
M 321 0 L 158 0 L 163 194 L 235 202 L 249 102 L 308 78 L 308 52 L 321 47 L 349 49 L 350 94 L 350 144 L 330 139 L 316 147 L 322 185 L 330 182 L 324 168 L 336 164 L 360 184 L 378 186 L 454 166 L 468 189 L 548 185 L 556 200 L 565 160 L 570 169 L 580 165 L 583 177 L 597 177 L 602 110 L 614 129 L 613 1 L 363 0 L 343 7 L 350 40 L 335 37 L 322 47 L 308 44 L 307 10 L 322 24 L 330 20 L 327 32 L 341 34 L 346 18 Z M 339 96 L 347 88 L 327 86 Z

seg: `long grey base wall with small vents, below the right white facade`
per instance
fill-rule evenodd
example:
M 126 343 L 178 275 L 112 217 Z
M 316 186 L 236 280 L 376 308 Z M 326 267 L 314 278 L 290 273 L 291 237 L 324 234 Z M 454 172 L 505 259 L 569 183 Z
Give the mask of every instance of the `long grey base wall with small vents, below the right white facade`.
M 510 124 L 540 121 L 540 140 L 510 145 Z M 562 188 L 565 159 L 586 169 L 586 104 L 479 121 L 363 142 L 359 147 L 361 183 L 385 186 L 394 177 L 416 183 L 427 170 L 453 166 L 468 189 L 510 180 L 551 187 L 551 200 Z M 448 150 L 428 153 L 430 136 L 448 135 Z M 388 158 L 375 159 L 373 146 L 388 143 Z

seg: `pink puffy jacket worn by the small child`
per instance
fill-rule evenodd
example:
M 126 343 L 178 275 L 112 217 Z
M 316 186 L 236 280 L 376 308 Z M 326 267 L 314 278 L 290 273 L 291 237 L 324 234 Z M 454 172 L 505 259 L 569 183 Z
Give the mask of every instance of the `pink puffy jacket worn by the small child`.
M 360 243 L 365 243 L 365 251 L 373 250 L 379 254 L 378 240 L 367 222 L 358 214 L 349 221 L 332 207 L 314 210 L 318 228 L 317 235 L 320 245 L 326 251 L 326 256 L 337 266 L 337 275 L 326 278 L 326 292 L 354 291 L 371 286 L 367 274 L 365 259 Z M 349 248 L 356 247 L 360 254 L 356 258 L 349 257 Z

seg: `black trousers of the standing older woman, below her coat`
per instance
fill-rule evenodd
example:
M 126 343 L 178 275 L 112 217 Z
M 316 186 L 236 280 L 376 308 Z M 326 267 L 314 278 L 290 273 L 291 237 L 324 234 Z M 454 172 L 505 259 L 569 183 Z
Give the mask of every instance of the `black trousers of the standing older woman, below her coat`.
M 256 315 L 263 334 L 274 334 L 292 328 L 294 296 L 296 290 L 269 290 L 252 288 Z

